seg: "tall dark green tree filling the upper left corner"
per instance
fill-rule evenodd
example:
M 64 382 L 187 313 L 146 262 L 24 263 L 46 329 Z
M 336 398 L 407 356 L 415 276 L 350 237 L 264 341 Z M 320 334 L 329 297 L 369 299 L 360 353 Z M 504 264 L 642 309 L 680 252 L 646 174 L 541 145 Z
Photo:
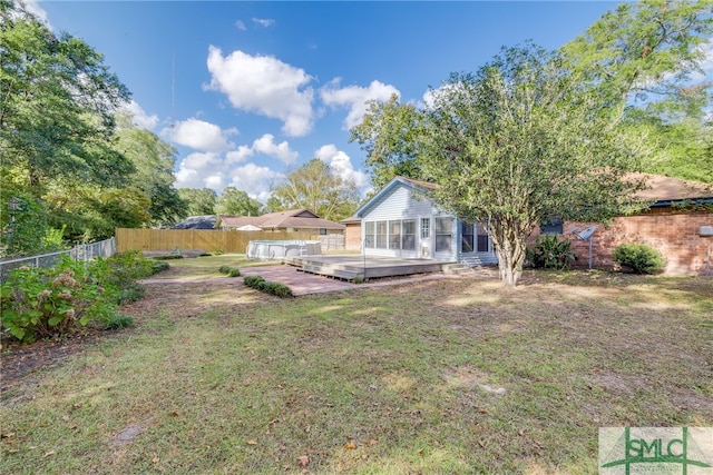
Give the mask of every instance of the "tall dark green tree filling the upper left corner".
M 57 177 L 123 184 L 131 164 L 111 148 L 114 110 L 129 92 L 80 39 L 0 3 L 3 167 L 36 197 Z

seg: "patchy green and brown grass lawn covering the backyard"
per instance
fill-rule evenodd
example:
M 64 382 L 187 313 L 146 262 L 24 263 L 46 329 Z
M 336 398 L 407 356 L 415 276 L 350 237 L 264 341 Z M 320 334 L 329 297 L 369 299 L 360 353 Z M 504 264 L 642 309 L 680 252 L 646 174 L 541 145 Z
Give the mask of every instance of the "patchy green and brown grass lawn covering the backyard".
M 710 278 L 208 279 L 246 264 L 170 261 L 134 328 L 4 392 L 0 473 L 594 474 L 598 427 L 713 425 Z

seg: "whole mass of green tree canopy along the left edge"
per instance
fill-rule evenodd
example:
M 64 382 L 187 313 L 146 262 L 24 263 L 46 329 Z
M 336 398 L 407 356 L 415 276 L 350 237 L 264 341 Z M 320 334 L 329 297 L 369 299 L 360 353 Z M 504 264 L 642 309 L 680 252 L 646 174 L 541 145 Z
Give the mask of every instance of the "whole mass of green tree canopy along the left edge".
M 118 113 L 130 95 L 101 53 L 20 1 L 0 0 L 0 91 L 1 255 L 185 214 L 175 150 Z

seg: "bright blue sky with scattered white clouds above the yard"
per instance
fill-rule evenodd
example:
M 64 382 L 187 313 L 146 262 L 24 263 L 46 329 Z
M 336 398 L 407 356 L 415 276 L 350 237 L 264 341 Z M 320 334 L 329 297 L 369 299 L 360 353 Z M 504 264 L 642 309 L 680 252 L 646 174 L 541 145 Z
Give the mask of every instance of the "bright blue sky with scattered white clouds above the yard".
M 502 46 L 555 49 L 616 2 L 40 1 L 133 93 L 138 126 L 176 146 L 177 188 L 226 186 L 265 201 L 318 157 L 362 191 L 349 144 L 365 101 L 420 102 Z

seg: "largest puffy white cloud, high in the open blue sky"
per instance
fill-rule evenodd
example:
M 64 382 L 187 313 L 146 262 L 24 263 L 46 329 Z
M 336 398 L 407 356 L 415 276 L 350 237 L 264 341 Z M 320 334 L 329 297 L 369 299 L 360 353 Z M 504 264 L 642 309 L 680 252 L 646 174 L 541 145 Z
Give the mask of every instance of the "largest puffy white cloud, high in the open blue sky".
M 225 93 L 236 109 L 282 120 L 282 131 L 291 137 L 307 135 L 313 127 L 312 81 L 303 69 L 268 56 L 233 51 L 223 57 L 211 46 L 207 58 L 211 83 L 204 89 Z

